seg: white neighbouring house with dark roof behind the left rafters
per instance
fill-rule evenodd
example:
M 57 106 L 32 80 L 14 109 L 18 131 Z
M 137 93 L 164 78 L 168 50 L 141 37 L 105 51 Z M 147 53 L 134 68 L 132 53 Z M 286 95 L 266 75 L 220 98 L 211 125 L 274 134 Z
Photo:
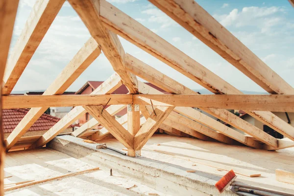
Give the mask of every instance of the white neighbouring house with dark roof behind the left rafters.
M 44 92 L 37 92 L 37 91 L 28 91 L 25 93 L 25 95 L 43 95 Z M 64 92 L 62 95 L 74 95 L 75 92 Z M 45 112 L 46 114 L 49 114 L 53 117 L 62 118 L 67 113 L 69 113 L 73 109 L 72 106 L 70 107 L 50 107 Z

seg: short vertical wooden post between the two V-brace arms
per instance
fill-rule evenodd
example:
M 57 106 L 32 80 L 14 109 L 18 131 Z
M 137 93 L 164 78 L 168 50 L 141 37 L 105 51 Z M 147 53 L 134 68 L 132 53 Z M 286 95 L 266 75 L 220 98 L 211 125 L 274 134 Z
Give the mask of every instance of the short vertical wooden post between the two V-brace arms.
M 127 105 L 127 131 L 135 137 L 140 129 L 140 106 Z M 127 155 L 131 157 L 141 156 L 141 150 L 127 149 Z

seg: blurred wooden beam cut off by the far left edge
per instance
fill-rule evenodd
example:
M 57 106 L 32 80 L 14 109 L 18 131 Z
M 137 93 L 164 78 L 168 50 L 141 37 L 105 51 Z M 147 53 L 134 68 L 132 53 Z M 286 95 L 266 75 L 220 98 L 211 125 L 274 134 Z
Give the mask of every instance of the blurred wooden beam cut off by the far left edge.
M 0 0 L 0 91 L 19 0 Z M 4 196 L 5 142 L 0 94 L 0 195 Z

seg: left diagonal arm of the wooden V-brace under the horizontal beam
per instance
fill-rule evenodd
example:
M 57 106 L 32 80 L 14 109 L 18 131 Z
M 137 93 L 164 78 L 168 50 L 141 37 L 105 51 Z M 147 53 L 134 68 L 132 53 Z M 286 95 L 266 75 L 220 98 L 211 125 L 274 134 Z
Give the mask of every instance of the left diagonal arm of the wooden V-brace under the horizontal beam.
M 123 128 L 107 111 L 103 111 L 103 106 L 83 106 L 98 122 L 118 140 L 123 146 L 133 148 L 133 136 Z

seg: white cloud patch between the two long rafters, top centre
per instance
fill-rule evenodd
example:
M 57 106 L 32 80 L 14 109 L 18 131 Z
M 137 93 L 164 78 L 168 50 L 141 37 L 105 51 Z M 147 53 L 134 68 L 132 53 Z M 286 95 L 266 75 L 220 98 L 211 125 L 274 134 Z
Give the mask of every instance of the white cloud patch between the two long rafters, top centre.
M 169 16 L 157 8 L 147 9 L 142 11 L 143 14 L 151 15 L 148 19 L 149 22 L 161 24 L 161 28 L 177 25 Z

